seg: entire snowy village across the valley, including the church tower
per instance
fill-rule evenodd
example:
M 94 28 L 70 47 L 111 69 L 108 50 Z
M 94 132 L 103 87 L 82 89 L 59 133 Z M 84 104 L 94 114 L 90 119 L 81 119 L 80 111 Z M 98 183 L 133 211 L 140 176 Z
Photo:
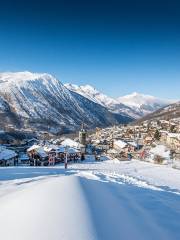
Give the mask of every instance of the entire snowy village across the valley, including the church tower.
M 180 119 L 145 121 L 138 125 L 119 125 L 97 128 L 88 136 L 82 129 L 79 138 L 49 141 L 28 140 L 17 151 L 9 146 L 0 147 L 0 166 L 29 164 L 55 165 L 67 161 L 83 160 L 85 154 L 101 154 L 119 160 L 132 158 L 155 163 L 172 163 L 180 168 Z

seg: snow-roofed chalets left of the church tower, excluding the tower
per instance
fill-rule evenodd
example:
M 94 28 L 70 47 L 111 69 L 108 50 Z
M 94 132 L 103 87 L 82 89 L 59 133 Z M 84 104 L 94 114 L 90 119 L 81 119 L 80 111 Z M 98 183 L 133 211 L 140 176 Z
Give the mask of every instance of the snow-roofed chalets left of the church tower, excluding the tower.
M 0 148 L 0 166 L 48 166 L 64 162 L 65 158 L 74 162 L 84 160 L 85 145 L 67 138 L 60 144 L 39 142 L 19 153 L 5 146 Z

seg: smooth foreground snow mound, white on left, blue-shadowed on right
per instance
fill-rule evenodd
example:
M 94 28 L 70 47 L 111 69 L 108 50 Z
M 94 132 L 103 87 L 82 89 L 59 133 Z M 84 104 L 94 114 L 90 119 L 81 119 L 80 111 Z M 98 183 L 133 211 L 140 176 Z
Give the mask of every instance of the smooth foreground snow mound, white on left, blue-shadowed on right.
M 48 177 L 0 198 L 0 239 L 177 240 L 179 200 L 82 176 Z

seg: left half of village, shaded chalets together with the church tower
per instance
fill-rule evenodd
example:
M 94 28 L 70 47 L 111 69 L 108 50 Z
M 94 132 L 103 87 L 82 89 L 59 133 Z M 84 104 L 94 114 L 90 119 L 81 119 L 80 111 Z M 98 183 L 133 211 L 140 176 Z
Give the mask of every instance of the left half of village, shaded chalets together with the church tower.
M 67 161 L 85 159 L 87 132 L 82 126 L 79 138 L 58 138 L 56 140 L 22 139 L 9 141 L 9 134 L 0 131 L 0 166 L 47 166 Z M 42 140 L 43 139 L 43 140 Z

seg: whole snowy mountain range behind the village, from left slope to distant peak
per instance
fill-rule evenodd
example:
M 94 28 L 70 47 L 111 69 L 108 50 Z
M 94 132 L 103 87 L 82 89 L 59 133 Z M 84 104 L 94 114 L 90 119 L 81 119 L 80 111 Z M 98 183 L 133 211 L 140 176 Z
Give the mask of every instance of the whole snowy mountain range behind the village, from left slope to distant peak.
M 47 73 L 0 73 L 0 127 L 74 131 L 124 124 L 170 104 L 133 93 L 117 99 L 94 87 L 62 84 Z

